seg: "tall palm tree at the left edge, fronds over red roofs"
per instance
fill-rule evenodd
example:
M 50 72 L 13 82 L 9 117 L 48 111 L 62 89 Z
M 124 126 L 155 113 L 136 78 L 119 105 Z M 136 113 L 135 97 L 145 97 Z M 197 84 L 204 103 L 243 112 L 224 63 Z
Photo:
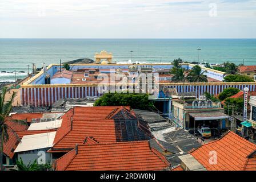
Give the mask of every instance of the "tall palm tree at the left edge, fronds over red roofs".
M 20 141 L 18 135 L 15 133 L 13 129 L 11 129 L 10 126 L 7 125 L 7 121 L 10 122 L 17 122 L 21 125 L 27 125 L 26 121 L 17 121 L 17 120 L 11 120 L 7 119 L 8 115 L 10 114 L 10 111 L 12 109 L 12 104 L 14 97 L 16 96 L 16 93 L 13 92 L 11 95 L 11 98 L 9 101 L 5 101 L 7 88 L 4 87 L 2 89 L 2 93 L 0 93 L 0 136 L 1 136 L 1 142 L 0 142 L 0 170 L 3 171 L 3 144 L 6 143 L 9 140 L 9 134 L 13 133 L 15 137 Z

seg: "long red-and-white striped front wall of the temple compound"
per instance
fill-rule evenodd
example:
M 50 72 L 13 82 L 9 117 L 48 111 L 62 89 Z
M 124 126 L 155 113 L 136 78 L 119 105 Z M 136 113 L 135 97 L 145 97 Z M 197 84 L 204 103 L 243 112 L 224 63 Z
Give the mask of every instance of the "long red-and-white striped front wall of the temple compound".
M 233 87 L 243 90 L 248 87 L 250 91 L 256 91 L 256 82 L 218 82 L 218 83 L 186 83 L 183 84 L 161 84 L 166 88 L 176 88 L 178 93 L 195 92 L 197 97 L 204 92 L 217 95 L 223 89 Z M 62 98 L 86 98 L 87 96 L 101 96 L 103 86 L 54 86 L 54 85 L 33 85 L 32 87 L 22 86 L 21 104 L 23 106 L 51 106 L 55 101 Z

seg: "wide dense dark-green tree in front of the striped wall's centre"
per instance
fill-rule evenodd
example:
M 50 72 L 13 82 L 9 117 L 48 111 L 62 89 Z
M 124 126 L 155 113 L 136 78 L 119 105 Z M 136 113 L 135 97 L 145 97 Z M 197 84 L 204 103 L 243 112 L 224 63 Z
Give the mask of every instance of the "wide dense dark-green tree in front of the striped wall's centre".
M 153 103 L 148 94 L 105 93 L 94 106 L 131 106 L 133 109 L 149 110 Z

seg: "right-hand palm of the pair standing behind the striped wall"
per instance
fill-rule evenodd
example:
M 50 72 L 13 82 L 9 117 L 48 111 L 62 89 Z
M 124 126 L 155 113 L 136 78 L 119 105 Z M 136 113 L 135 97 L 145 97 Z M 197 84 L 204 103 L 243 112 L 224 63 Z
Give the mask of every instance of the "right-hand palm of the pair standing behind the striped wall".
M 195 65 L 187 75 L 187 80 L 190 82 L 208 82 L 207 76 L 203 75 L 204 73 L 207 73 L 207 71 L 202 71 L 199 65 Z

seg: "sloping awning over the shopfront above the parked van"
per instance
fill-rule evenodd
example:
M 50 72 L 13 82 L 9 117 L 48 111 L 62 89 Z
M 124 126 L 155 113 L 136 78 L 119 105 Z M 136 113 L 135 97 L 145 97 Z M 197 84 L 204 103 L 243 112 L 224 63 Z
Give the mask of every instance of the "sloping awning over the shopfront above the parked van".
M 191 115 L 191 117 L 193 117 L 195 119 L 195 121 L 229 118 L 229 115 L 221 113 L 221 112 L 190 113 L 189 115 Z

